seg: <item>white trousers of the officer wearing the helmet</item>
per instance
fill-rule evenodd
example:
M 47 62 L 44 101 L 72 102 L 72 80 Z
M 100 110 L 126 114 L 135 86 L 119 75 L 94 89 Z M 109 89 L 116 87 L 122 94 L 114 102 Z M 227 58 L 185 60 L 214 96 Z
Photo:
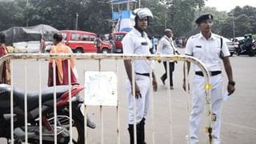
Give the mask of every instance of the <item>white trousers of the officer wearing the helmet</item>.
M 146 117 L 150 106 L 150 77 L 135 74 L 135 82 L 139 87 L 142 98 L 136 99 L 136 124 Z M 132 87 L 127 79 L 126 89 L 128 91 L 128 123 L 134 124 L 134 96 L 132 95 Z

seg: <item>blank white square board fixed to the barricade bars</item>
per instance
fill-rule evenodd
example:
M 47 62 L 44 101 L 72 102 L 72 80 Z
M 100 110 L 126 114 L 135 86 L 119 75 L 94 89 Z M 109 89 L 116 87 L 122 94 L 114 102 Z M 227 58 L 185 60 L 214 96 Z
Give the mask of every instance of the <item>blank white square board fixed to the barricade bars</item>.
M 117 75 L 111 71 L 86 71 L 85 105 L 118 106 Z

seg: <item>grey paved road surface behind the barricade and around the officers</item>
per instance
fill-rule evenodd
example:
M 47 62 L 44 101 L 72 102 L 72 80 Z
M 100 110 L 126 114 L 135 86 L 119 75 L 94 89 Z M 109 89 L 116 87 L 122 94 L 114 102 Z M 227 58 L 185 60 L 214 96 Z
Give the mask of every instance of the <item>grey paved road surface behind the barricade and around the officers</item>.
M 183 50 L 181 50 L 183 51 Z M 222 113 L 222 143 L 223 144 L 251 144 L 256 142 L 256 58 L 247 56 L 234 56 L 230 58 L 234 71 L 234 80 L 237 90 L 231 95 L 227 102 L 223 102 Z M 14 61 L 14 85 L 24 88 L 25 68 L 23 60 Z M 27 62 L 27 83 L 29 90 L 38 90 L 38 62 L 30 60 Z M 120 110 L 121 143 L 128 144 L 127 129 L 127 98 L 124 83 L 126 73 L 122 62 L 102 61 L 102 70 L 116 70 L 118 66 L 118 96 Z M 79 82 L 83 83 L 83 72 L 85 70 L 98 70 L 98 62 L 77 62 Z M 185 143 L 185 135 L 188 131 L 188 110 L 186 103 L 190 103 L 190 94 L 182 90 L 182 62 L 178 62 L 174 71 L 174 90 L 167 93 L 166 86 L 162 86 L 160 76 L 163 73 L 162 64 L 156 64 L 156 75 L 158 76 L 158 92 L 154 93 L 154 133 L 155 143 Z M 46 87 L 47 61 L 42 62 L 42 86 Z M 226 78 L 226 75 L 225 75 Z M 171 101 L 171 102 L 170 102 Z M 171 103 L 171 104 L 170 104 Z M 171 112 L 170 112 L 171 106 Z M 90 117 L 97 123 L 95 130 L 89 130 L 89 143 L 98 144 L 101 141 L 99 107 L 89 106 Z M 116 108 L 104 107 L 104 143 L 114 144 L 116 142 Z M 170 115 L 171 114 L 171 115 Z M 152 143 L 152 110 L 146 118 L 146 142 Z M 170 119 L 172 121 L 170 122 Z M 171 125 L 170 125 L 171 124 Z M 171 130 L 172 127 L 172 130 Z M 170 132 L 171 131 L 171 132 Z M 0 143 L 5 141 L 0 139 Z M 204 125 L 200 131 L 200 143 L 206 143 Z

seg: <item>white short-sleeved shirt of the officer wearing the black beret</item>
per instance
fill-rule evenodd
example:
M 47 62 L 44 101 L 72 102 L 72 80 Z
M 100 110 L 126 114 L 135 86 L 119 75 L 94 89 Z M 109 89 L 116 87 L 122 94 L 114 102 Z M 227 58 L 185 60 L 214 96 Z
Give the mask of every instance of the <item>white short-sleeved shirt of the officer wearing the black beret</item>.
M 211 33 L 211 37 L 206 39 L 199 33 L 188 39 L 185 54 L 192 55 L 201 60 L 208 70 L 216 71 L 222 70 L 221 50 L 224 57 L 230 56 L 230 51 L 224 40 L 222 40 L 221 48 L 221 36 Z M 194 70 L 200 71 L 200 68 L 194 66 Z

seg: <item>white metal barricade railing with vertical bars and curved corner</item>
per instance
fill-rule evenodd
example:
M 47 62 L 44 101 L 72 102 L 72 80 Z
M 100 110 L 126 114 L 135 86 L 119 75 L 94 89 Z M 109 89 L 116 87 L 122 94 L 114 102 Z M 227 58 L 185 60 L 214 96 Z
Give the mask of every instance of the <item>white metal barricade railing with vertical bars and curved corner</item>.
M 38 121 L 39 121 L 39 140 L 38 142 L 40 144 L 42 144 L 42 60 L 45 60 L 46 58 L 52 58 L 53 59 L 53 67 L 54 67 L 54 103 L 57 103 L 57 90 L 56 90 L 56 63 L 54 61 L 55 58 L 76 58 L 78 60 L 98 60 L 98 71 L 101 71 L 101 67 L 102 67 L 102 63 L 101 60 L 105 60 L 105 59 L 112 59 L 112 60 L 125 60 L 125 59 L 131 59 L 132 61 L 134 60 L 142 60 L 142 59 L 147 59 L 147 60 L 154 60 L 154 61 L 183 61 L 183 62 L 192 62 L 195 65 L 197 65 L 201 70 L 203 75 L 205 76 L 204 78 L 206 79 L 206 85 L 205 85 L 205 93 L 206 93 L 206 114 L 207 114 L 207 126 L 206 126 L 206 133 L 208 133 L 208 143 L 212 143 L 212 137 L 211 137 L 211 133 L 212 133 L 212 121 L 214 119 L 214 115 L 212 114 L 211 111 L 211 104 L 210 104 L 210 74 L 208 72 L 208 70 L 206 70 L 206 67 L 203 65 L 202 62 L 200 62 L 197 58 L 193 58 L 190 56 L 186 56 L 186 55 L 136 55 L 136 54 L 130 54 L 130 55 L 126 55 L 126 54 L 8 54 L 2 58 L 0 58 L 0 65 L 2 64 L 2 62 L 6 61 L 6 59 L 10 59 L 10 66 L 11 66 L 11 85 L 10 85 L 10 131 L 11 131 L 11 135 L 10 135 L 10 139 L 11 139 L 11 143 L 14 143 L 16 141 L 14 138 L 14 67 L 13 67 L 13 62 L 12 60 L 14 59 L 22 59 L 24 60 L 24 68 L 25 68 L 25 93 L 24 93 L 24 110 L 25 110 L 25 136 L 24 139 L 22 139 L 23 142 L 28 143 L 29 139 L 30 139 L 30 131 L 28 131 L 28 126 L 30 126 L 29 122 L 27 121 L 27 112 L 28 112 L 28 108 L 27 108 L 27 63 L 26 63 L 26 59 L 38 59 L 38 70 L 39 70 L 39 74 L 38 74 L 38 79 L 39 79 L 39 93 L 38 93 L 38 106 L 39 106 L 39 115 L 38 115 Z M 116 70 L 114 70 L 116 73 L 118 73 L 118 68 L 117 68 L 117 62 L 115 63 L 116 65 Z M 68 82 L 71 83 L 71 76 L 70 76 L 70 60 L 68 60 Z M 134 67 L 134 66 L 132 66 Z M 185 65 L 185 81 L 186 81 L 186 90 L 188 90 L 188 80 L 187 80 L 187 66 Z M 167 65 L 167 70 L 169 70 L 169 65 Z M 133 84 L 134 84 L 134 68 L 132 68 L 133 74 Z M 170 73 L 167 72 L 167 77 L 169 78 Z M 150 74 L 150 78 L 152 77 L 152 75 Z M 69 85 L 68 88 L 68 94 L 69 94 L 69 99 L 71 98 L 71 91 L 72 87 L 71 85 Z M 135 93 L 134 90 L 134 85 L 132 87 L 133 89 L 133 93 Z M 170 89 L 170 87 L 169 87 Z M 168 95 L 170 95 L 170 90 L 168 90 Z M 151 94 L 150 94 L 151 99 L 153 100 L 153 91 L 152 91 L 152 87 L 151 87 Z M 73 130 L 72 130 L 72 123 L 73 123 L 73 118 L 72 118 L 72 101 L 68 101 L 69 102 L 69 107 L 71 107 L 71 109 L 69 110 L 69 137 L 70 139 L 73 140 Z M 152 104 L 150 105 L 151 107 L 151 111 L 153 114 L 151 114 L 151 118 L 152 118 L 152 141 L 154 143 L 154 102 L 151 102 Z M 171 98 L 170 98 L 170 103 L 171 103 Z M 187 102 L 187 105 L 188 102 Z M 134 97 L 134 107 L 136 106 L 135 104 L 135 97 Z M 189 109 L 189 107 L 188 107 Z M 86 119 L 86 105 L 84 108 L 84 119 Z M 120 118 L 119 118 L 119 105 L 117 104 L 116 106 L 116 114 L 117 114 L 117 143 L 120 144 Z M 134 110 L 135 113 L 135 110 Z M 134 114 L 135 115 L 135 114 Z M 58 122 L 57 122 L 57 107 L 56 105 L 54 105 L 54 143 L 58 142 L 58 134 L 60 133 L 58 131 Z M 103 129 L 103 110 L 102 110 L 102 106 L 100 106 L 100 118 L 101 118 L 101 143 L 104 143 L 104 129 Z M 135 122 L 135 121 L 134 121 Z M 173 143 L 173 134 L 172 134 L 172 110 L 171 110 L 171 106 L 170 106 L 170 143 Z M 84 121 L 84 138 L 85 138 L 85 143 L 87 142 L 87 128 L 86 128 L 87 122 L 86 120 Z M 62 131 L 63 132 L 63 131 Z M 134 139 L 135 139 L 135 143 L 136 142 L 136 126 L 134 125 Z

